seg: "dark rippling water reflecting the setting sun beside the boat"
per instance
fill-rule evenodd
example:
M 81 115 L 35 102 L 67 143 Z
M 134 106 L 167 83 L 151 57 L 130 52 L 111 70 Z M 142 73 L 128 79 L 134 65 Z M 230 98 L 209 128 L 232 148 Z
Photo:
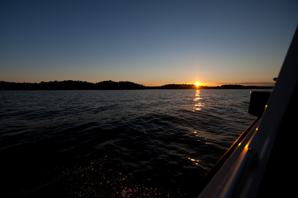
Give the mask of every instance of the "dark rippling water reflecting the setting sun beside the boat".
M 186 197 L 255 119 L 249 90 L 0 97 L 1 197 Z

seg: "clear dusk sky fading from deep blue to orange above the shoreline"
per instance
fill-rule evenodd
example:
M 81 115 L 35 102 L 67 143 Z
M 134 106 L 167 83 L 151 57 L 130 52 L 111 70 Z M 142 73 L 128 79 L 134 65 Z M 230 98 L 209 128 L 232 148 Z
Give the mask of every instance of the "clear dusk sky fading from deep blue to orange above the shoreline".
M 0 81 L 273 85 L 298 1 L 1 1 Z

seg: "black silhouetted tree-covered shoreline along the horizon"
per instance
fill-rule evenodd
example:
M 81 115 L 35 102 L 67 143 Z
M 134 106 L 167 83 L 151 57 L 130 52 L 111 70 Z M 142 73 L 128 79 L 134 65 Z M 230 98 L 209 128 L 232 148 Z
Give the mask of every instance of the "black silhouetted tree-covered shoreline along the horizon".
M 221 85 L 216 87 L 196 86 L 195 84 L 167 84 L 162 86 L 144 86 L 129 81 L 86 81 L 64 80 L 40 83 L 13 83 L 0 81 L 0 90 L 141 90 L 141 89 L 272 89 L 273 86 Z

